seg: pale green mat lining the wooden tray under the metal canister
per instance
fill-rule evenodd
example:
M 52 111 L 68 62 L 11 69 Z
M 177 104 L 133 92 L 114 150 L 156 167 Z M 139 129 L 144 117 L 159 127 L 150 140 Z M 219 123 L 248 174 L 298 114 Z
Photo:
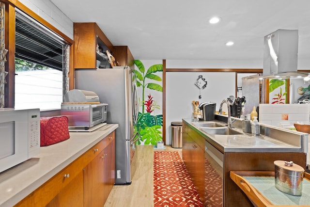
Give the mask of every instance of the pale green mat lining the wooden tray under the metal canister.
M 303 179 L 302 195 L 295 196 L 279 191 L 275 187 L 275 177 L 243 176 L 254 188 L 262 193 L 273 205 L 309 206 L 310 181 Z

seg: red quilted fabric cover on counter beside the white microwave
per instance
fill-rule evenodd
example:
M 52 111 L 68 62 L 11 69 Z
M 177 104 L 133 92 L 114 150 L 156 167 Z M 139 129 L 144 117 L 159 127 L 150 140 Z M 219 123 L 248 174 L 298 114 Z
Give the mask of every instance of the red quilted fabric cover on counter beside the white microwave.
M 40 118 L 40 146 L 59 143 L 69 138 L 68 117 Z

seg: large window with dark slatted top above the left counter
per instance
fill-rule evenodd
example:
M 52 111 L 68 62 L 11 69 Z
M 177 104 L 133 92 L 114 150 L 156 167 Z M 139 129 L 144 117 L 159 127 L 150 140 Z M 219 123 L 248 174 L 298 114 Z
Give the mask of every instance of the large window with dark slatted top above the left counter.
M 60 109 L 68 85 L 68 46 L 17 9 L 15 36 L 15 108 Z

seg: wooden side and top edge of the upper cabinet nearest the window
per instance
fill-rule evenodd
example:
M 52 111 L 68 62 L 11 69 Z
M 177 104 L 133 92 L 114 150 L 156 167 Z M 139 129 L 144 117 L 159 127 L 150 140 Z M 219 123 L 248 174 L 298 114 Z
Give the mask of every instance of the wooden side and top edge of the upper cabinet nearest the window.
M 113 45 L 95 22 L 74 23 L 74 68 L 96 68 L 96 46 L 113 50 Z

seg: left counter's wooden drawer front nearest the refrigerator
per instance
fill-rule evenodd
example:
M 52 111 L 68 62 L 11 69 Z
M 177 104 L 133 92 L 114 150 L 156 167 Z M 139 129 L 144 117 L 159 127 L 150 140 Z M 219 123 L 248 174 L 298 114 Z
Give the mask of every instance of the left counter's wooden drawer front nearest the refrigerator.
M 115 131 L 111 132 L 108 136 L 103 138 L 100 142 L 96 143 L 91 149 L 84 154 L 84 165 L 91 162 L 109 143 L 115 138 Z

